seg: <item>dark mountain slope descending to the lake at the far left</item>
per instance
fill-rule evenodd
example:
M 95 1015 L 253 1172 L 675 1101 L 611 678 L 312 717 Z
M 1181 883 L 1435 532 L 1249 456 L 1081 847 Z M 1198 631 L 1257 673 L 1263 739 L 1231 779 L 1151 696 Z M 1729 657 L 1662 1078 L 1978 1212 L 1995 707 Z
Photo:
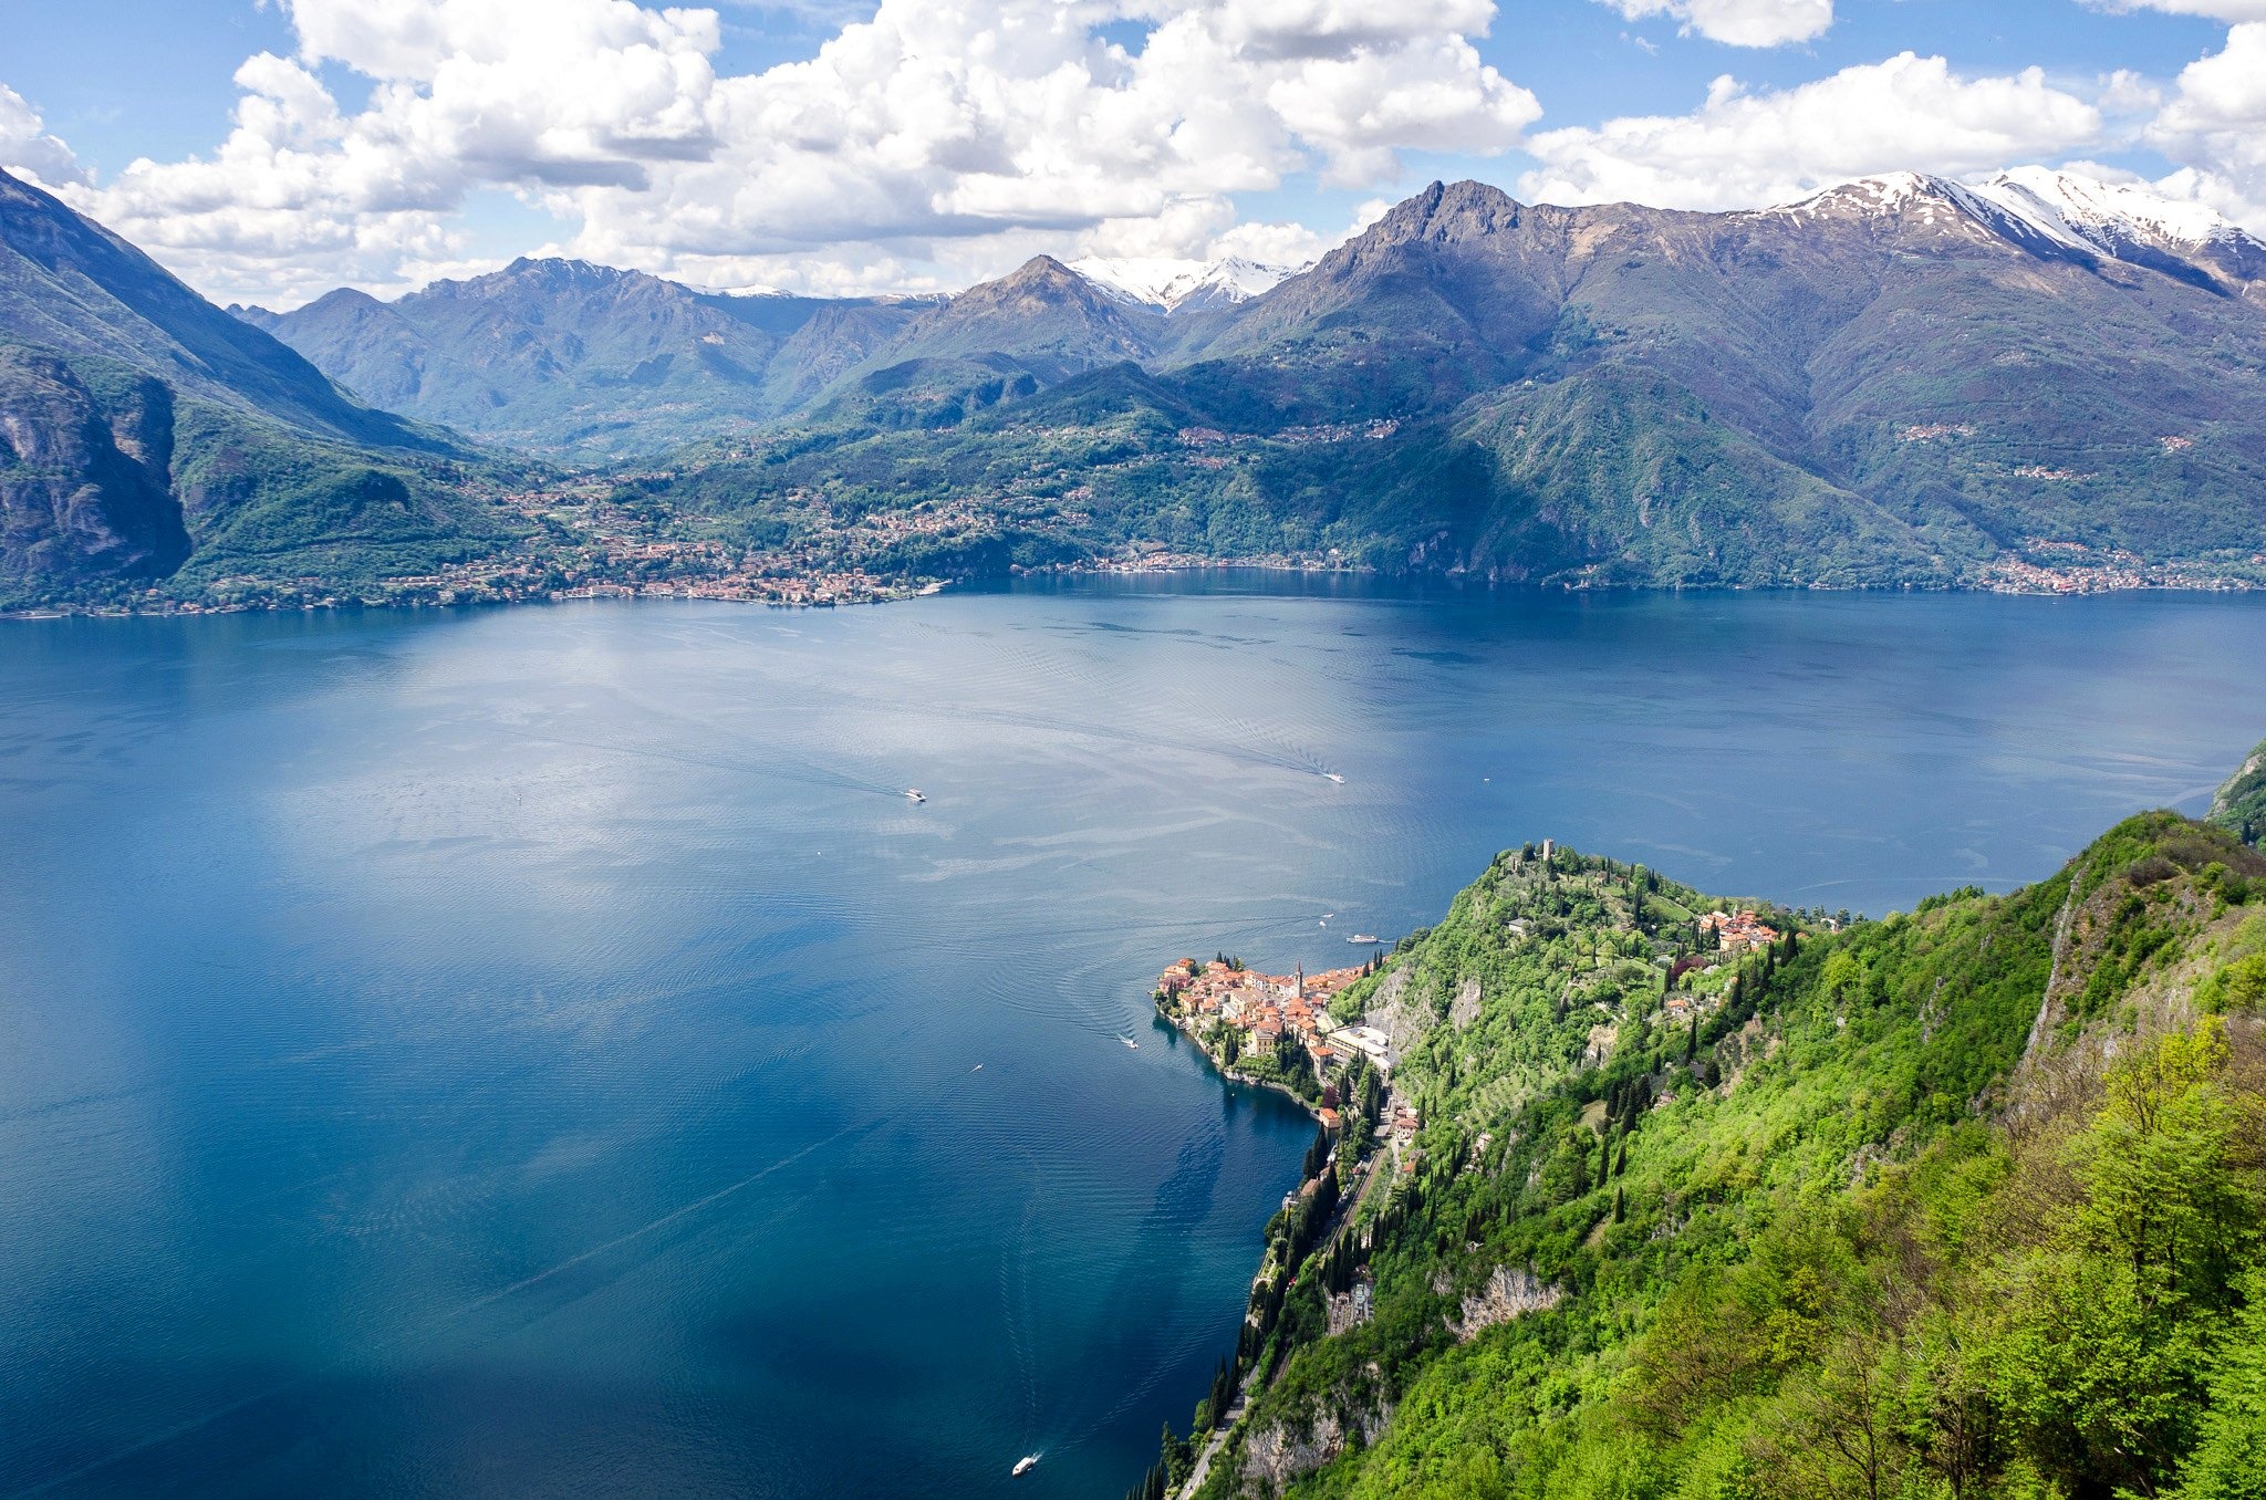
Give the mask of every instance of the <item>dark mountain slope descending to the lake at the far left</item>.
M 480 551 L 467 458 L 0 172 L 0 603 Z

